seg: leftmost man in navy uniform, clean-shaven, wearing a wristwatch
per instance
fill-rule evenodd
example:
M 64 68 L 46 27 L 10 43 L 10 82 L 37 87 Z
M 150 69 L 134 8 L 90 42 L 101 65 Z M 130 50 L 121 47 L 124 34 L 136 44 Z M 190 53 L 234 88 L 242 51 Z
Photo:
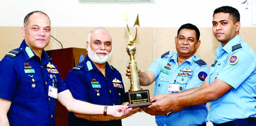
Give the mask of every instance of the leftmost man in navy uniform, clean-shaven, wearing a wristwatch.
M 129 112 L 128 106 L 99 106 L 72 97 L 44 51 L 51 34 L 47 14 L 27 14 L 21 33 L 20 47 L 0 61 L 0 126 L 55 126 L 55 99 L 82 114 L 121 117 Z

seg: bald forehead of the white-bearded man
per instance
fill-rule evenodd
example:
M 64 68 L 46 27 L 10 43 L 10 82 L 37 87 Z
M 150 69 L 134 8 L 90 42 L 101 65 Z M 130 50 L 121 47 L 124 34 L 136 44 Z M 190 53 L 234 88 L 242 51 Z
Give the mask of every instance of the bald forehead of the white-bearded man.
M 111 35 L 104 29 L 97 29 L 91 33 L 91 41 L 100 40 L 100 41 L 112 41 Z

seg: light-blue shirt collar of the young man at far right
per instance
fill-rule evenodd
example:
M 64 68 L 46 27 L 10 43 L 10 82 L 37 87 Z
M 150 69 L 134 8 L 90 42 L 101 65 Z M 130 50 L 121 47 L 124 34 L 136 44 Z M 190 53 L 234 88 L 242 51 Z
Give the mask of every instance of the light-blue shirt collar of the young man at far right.
M 236 35 L 233 39 L 231 39 L 224 47 L 220 45 L 216 50 L 215 53 L 223 54 L 224 52 L 227 52 L 228 54 L 232 52 L 232 46 L 235 46 L 238 43 L 241 43 L 241 37 L 240 34 Z

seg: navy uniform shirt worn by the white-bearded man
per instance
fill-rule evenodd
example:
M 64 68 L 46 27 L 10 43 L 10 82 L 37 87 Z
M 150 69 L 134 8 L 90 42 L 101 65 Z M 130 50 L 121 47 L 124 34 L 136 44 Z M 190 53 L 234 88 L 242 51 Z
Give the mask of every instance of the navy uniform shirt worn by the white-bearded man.
M 88 55 L 75 66 L 65 79 L 70 92 L 77 100 L 98 105 L 120 105 L 125 101 L 121 74 L 106 62 L 105 76 Z M 69 126 L 122 126 L 121 120 L 90 121 L 69 113 Z

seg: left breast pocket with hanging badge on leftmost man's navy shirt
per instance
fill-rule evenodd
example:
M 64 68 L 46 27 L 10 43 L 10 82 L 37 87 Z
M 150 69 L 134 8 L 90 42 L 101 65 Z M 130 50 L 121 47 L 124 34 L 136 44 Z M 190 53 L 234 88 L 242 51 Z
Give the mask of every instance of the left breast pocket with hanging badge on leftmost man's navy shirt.
M 29 75 L 24 74 L 22 76 L 21 85 L 24 86 L 22 87 L 22 89 L 24 89 L 23 92 L 29 94 L 30 98 L 38 98 L 42 96 L 44 85 L 42 86 L 40 83 L 39 77 L 35 76 L 35 74 L 33 74 L 33 76 L 34 77 L 30 77 Z

